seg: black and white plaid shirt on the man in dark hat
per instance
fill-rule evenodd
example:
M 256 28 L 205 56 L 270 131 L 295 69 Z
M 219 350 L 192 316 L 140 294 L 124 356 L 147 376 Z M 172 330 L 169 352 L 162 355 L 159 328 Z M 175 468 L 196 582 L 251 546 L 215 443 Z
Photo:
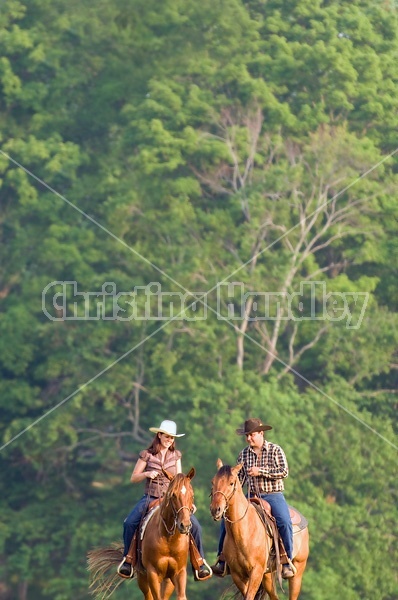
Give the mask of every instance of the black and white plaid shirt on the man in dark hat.
M 238 463 L 243 463 L 243 469 L 239 472 L 240 482 L 242 486 L 247 483 L 251 496 L 283 492 L 283 479 L 288 476 L 289 467 L 280 446 L 264 440 L 259 457 L 250 446 L 246 446 L 239 453 Z M 250 467 L 260 467 L 260 475 L 258 477 L 247 475 Z

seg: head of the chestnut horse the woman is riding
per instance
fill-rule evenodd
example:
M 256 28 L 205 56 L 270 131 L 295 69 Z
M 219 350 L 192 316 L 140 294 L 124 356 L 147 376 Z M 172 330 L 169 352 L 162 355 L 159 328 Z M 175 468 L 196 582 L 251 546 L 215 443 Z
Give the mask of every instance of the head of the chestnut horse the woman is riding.
M 187 475 L 178 473 L 170 482 L 162 503 L 162 508 L 164 509 L 163 522 L 169 534 L 175 528 L 184 534 L 188 534 L 191 530 L 191 514 L 193 512 L 194 500 L 191 479 L 194 476 L 195 469 L 192 467 Z M 173 519 L 171 527 L 167 524 L 170 517 Z

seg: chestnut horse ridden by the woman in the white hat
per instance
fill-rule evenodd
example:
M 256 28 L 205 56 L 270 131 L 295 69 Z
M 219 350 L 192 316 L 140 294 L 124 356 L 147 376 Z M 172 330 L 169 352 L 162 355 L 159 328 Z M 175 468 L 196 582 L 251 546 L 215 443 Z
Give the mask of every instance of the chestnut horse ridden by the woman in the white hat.
M 160 507 L 147 522 L 137 564 L 137 582 L 145 600 L 169 600 L 174 589 L 177 600 L 187 600 L 187 559 L 194 494 L 191 479 L 195 469 L 175 475 Z M 88 570 L 93 593 L 103 600 L 124 580 L 107 572 L 122 560 L 122 548 L 100 548 L 89 552 Z

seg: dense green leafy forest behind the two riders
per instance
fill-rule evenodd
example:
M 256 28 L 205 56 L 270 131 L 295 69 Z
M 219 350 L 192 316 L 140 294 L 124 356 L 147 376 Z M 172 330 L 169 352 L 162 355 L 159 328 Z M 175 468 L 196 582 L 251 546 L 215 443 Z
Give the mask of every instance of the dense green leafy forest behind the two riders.
M 1 4 L 2 600 L 90 597 L 86 553 L 121 540 L 142 494 L 130 473 L 164 418 L 186 433 L 214 560 L 210 480 L 249 416 L 273 426 L 286 498 L 309 519 L 302 600 L 398 598 L 396 8 Z M 54 281 L 209 291 L 209 308 L 65 320 L 50 294 L 49 318 Z M 319 318 L 300 318 L 311 281 Z M 222 288 L 218 308 L 240 318 L 220 318 L 219 282 L 251 293 Z M 301 293 L 295 318 L 256 319 L 269 292 Z M 190 580 L 188 595 L 226 586 Z M 141 595 L 125 582 L 114 597 Z

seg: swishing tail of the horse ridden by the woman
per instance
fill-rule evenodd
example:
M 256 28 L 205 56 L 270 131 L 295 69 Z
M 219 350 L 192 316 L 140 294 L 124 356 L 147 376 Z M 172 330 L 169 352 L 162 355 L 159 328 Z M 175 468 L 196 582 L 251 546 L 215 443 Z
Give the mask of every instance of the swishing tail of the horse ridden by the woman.
M 87 553 L 90 592 L 97 600 L 106 600 L 123 583 L 116 566 L 123 559 L 123 548 L 114 543 L 109 548 L 96 548 Z

